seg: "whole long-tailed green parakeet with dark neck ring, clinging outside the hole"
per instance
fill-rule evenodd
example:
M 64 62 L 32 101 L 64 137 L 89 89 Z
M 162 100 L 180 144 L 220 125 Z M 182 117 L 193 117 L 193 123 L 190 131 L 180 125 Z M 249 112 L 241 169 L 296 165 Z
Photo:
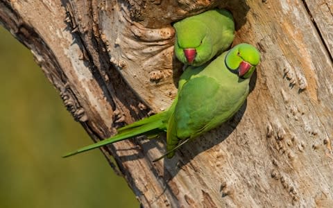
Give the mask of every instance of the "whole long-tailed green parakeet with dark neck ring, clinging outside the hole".
M 169 110 L 119 128 L 114 137 L 63 157 L 138 135 L 156 136 L 164 131 L 167 132 L 166 156 L 171 158 L 174 151 L 187 141 L 216 128 L 239 110 L 248 96 L 249 78 L 259 60 L 255 47 L 239 44 L 210 64 L 187 67 L 180 77 L 178 95 Z

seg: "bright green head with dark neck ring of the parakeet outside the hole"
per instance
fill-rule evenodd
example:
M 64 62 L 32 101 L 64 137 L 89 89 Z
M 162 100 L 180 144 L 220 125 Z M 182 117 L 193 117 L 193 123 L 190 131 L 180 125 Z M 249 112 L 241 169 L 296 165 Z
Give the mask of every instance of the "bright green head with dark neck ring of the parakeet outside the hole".
M 225 56 L 225 64 L 239 78 L 250 78 L 260 62 L 259 51 L 250 44 L 238 44 Z

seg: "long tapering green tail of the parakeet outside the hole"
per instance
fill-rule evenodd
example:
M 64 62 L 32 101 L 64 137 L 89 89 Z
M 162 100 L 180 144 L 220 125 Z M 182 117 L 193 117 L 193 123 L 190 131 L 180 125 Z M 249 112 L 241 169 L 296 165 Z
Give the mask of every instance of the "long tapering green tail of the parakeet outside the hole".
M 117 141 L 129 139 L 131 137 L 147 135 L 147 133 L 149 135 L 149 132 L 154 132 L 154 134 L 155 134 L 156 131 L 166 130 L 167 127 L 164 122 L 164 119 L 167 119 L 165 117 L 166 115 L 167 115 L 167 112 L 161 112 L 159 114 L 155 114 L 153 116 L 150 116 L 146 119 L 142 119 L 142 120 L 132 123 L 130 125 L 126 125 L 123 128 L 119 128 L 118 134 L 114 135 L 114 137 L 110 137 L 108 139 L 99 141 L 95 144 L 91 144 L 89 146 L 79 148 L 78 150 L 75 150 L 74 152 L 71 152 L 71 153 L 67 153 L 66 155 L 63 155 L 62 157 L 70 157 L 70 156 L 76 155 L 78 153 L 83 153 L 87 150 L 99 148 L 101 146 L 105 146 L 107 144 L 112 144 Z

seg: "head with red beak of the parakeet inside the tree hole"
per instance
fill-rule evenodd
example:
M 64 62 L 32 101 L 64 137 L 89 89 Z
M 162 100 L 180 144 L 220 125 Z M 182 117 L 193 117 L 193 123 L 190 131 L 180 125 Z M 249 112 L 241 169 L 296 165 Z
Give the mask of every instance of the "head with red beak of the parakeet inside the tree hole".
M 207 26 L 201 21 L 183 19 L 173 27 L 176 28 L 175 53 L 178 60 L 196 67 L 210 59 L 212 42 Z

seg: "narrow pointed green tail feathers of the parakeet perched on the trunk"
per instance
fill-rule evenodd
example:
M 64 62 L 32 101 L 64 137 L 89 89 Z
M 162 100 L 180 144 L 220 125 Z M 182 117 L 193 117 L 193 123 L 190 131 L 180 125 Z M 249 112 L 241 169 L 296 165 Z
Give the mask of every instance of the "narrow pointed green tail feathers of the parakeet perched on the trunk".
M 83 153 L 87 150 L 92 150 L 94 148 L 99 148 L 101 146 L 105 146 L 107 144 L 112 144 L 116 141 L 122 141 L 124 139 L 129 139 L 131 137 L 135 137 L 135 136 L 139 136 L 139 135 L 145 135 L 147 132 L 155 132 L 155 130 L 160 130 L 161 128 L 163 128 L 163 121 L 162 119 L 157 119 L 157 115 L 155 116 L 155 119 L 150 119 L 149 122 L 144 122 L 142 125 L 135 125 L 135 123 L 140 122 L 137 121 L 135 123 L 133 123 L 132 128 L 125 128 L 125 130 L 123 130 L 124 128 L 122 128 L 123 132 L 119 132 L 119 134 L 114 135 L 114 137 L 110 137 L 108 139 L 104 139 L 102 141 L 99 141 L 95 144 L 91 144 L 89 146 L 85 146 L 83 148 L 79 148 L 78 150 L 75 150 L 74 152 L 71 153 L 67 153 L 66 155 L 63 155 L 62 157 L 69 157 L 72 155 L 76 155 L 78 153 Z M 151 117 L 149 117 L 151 118 Z M 147 118 L 147 120 L 149 119 Z M 146 119 L 143 119 L 146 120 Z

